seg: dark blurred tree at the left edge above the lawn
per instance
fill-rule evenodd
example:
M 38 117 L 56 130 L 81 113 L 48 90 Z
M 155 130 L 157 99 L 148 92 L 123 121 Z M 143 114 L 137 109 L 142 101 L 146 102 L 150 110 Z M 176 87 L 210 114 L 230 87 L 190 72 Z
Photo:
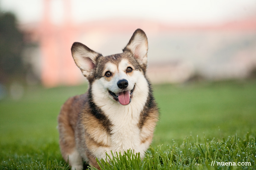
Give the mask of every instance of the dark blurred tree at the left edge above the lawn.
M 17 27 L 12 13 L 0 13 L 0 83 L 12 78 L 23 78 L 25 67 L 22 62 L 22 50 L 25 46 L 23 34 Z

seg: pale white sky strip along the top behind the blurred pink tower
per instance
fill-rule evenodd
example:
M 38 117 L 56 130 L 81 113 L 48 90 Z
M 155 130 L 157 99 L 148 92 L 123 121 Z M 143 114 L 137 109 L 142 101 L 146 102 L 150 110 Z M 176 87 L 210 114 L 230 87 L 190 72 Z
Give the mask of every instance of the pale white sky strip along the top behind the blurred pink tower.
M 51 0 L 52 22 L 64 17 L 63 0 Z M 42 19 L 43 0 L 0 0 L 2 11 L 12 11 L 22 23 Z M 73 22 L 109 17 L 139 17 L 175 23 L 224 22 L 251 15 L 255 0 L 71 0 Z

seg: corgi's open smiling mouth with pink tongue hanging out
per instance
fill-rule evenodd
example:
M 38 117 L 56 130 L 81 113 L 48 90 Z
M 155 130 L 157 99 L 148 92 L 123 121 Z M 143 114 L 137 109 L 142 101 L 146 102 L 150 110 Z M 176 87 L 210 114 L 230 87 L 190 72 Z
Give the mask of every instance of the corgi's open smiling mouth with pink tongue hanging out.
M 133 89 L 131 91 L 126 90 L 120 93 L 114 93 L 109 90 L 108 92 L 109 94 L 111 94 L 111 96 L 113 96 L 114 100 L 119 102 L 121 105 L 127 105 L 132 101 L 134 88 L 135 88 L 135 85 L 133 86 Z

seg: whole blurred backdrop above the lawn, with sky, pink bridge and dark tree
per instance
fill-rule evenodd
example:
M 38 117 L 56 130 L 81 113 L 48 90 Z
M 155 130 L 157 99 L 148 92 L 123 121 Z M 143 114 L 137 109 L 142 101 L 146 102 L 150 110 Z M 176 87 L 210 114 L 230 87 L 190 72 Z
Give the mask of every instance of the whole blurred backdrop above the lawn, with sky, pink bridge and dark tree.
M 255 0 L 0 0 L 0 10 L 0 98 L 21 97 L 24 84 L 84 83 L 72 43 L 120 53 L 137 28 L 153 83 L 256 76 Z

